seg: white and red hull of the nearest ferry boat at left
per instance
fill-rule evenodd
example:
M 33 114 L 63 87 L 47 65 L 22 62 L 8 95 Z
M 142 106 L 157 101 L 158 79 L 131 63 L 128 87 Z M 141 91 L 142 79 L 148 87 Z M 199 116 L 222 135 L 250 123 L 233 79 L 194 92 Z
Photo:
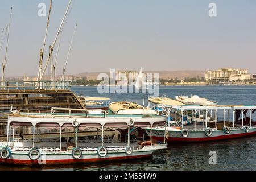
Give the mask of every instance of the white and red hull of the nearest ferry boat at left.
M 31 160 L 26 153 L 14 152 L 9 159 L 0 158 L 0 163 L 15 164 L 22 166 L 40 166 L 40 165 L 60 165 L 60 164 L 82 164 L 82 163 L 98 163 L 109 162 L 113 160 L 127 160 L 149 158 L 153 151 L 133 152 L 128 155 L 125 152 L 107 154 L 105 157 L 100 157 L 97 154 L 83 154 L 80 159 L 75 159 L 69 154 L 45 154 L 38 160 Z

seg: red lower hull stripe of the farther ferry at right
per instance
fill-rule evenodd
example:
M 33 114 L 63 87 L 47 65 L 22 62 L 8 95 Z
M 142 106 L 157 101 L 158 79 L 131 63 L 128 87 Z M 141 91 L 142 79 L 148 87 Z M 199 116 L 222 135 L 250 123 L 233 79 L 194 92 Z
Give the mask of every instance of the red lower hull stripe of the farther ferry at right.
M 241 134 L 229 134 L 229 135 L 221 135 L 217 137 L 203 137 L 203 138 L 185 138 L 185 137 L 169 137 L 168 138 L 168 143 L 172 142 L 207 142 L 207 141 L 214 141 L 214 140 L 224 140 L 224 139 L 230 139 L 230 138 L 239 138 L 239 137 L 246 137 L 250 135 L 255 135 L 255 132 L 251 133 L 241 133 Z M 158 140 L 158 141 L 163 141 L 163 137 L 154 137 L 152 136 L 153 139 Z

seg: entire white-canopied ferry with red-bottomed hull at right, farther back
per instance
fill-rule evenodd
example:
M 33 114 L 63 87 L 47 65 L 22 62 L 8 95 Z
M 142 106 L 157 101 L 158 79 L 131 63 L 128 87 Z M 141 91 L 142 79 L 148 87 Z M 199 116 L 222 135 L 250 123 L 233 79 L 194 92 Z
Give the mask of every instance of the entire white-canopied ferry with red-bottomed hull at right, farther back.
M 163 106 L 162 115 L 175 114 L 168 127 L 154 127 L 152 138 L 172 142 L 205 142 L 256 134 L 256 105 Z M 169 119 L 171 117 L 168 117 Z M 146 129 L 147 133 L 151 131 Z

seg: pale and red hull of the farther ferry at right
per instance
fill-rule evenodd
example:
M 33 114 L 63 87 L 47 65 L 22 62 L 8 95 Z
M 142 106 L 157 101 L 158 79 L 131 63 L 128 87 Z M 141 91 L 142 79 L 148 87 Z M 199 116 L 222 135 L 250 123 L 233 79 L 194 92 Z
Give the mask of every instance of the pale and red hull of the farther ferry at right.
M 147 133 L 150 131 L 147 130 Z M 163 130 L 152 130 L 152 138 L 158 141 L 163 140 Z M 243 129 L 230 129 L 229 134 L 225 134 L 223 130 L 216 130 L 212 132 L 210 137 L 205 135 L 205 131 L 189 131 L 188 137 L 183 137 L 181 131 L 168 131 L 168 143 L 174 142 L 208 142 L 215 140 L 225 140 L 232 138 L 247 137 L 250 135 L 256 135 L 256 128 L 249 129 L 249 132 L 245 132 Z

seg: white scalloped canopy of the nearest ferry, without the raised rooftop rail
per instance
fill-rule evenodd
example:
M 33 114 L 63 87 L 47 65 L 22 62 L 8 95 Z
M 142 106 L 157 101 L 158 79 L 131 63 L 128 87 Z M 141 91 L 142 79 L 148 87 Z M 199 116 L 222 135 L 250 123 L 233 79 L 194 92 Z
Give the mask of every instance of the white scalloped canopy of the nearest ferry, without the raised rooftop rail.
M 131 125 L 131 122 L 133 125 Z M 32 114 L 32 113 L 15 113 L 9 114 L 8 124 L 13 127 L 43 127 L 46 129 L 75 129 L 74 123 L 77 123 L 79 129 L 98 129 L 98 128 L 110 128 L 110 129 L 127 129 L 131 127 L 155 127 L 165 126 L 166 117 L 158 115 L 137 115 L 133 117 L 114 115 L 107 116 L 102 115 L 95 117 L 90 114 L 90 117 L 81 117 L 77 115 L 61 115 L 61 114 Z

